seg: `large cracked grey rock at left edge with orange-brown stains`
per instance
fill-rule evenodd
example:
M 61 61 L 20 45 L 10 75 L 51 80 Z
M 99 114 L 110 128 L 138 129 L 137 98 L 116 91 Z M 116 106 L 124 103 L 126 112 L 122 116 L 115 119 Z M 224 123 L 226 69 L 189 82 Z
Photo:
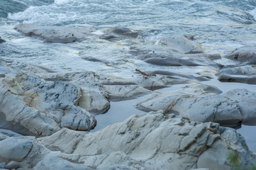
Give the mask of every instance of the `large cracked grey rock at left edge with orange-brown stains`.
M 0 81 L 0 127 L 23 135 L 45 136 L 63 127 L 91 130 L 96 120 L 77 106 L 79 86 L 67 81 L 45 81 L 9 70 Z M 7 75 L 7 74 L 6 74 Z

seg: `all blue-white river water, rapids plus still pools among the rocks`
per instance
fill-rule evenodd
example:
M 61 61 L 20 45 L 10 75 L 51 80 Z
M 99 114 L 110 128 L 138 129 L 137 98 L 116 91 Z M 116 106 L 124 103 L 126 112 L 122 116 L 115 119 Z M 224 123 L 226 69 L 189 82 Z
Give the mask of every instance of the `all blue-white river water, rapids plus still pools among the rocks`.
M 195 74 L 207 68 L 147 64 L 130 54 L 130 42 L 126 40 L 108 42 L 95 38 L 52 44 L 25 36 L 13 28 L 18 23 L 87 27 L 99 31 L 123 26 L 139 32 L 139 37 L 131 40 L 138 43 L 154 42 L 169 35 L 195 35 L 194 41 L 199 42 L 205 52 L 223 56 L 237 47 L 255 45 L 255 21 L 255 0 L 0 0 L 0 36 L 6 40 L 0 44 L 0 58 L 9 62 L 41 64 L 56 72 L 85 70 L 130 77 L 138 68 L 145 72 L 161 70 Z M 97 62 L 84 60 L 88 57 L 93 57 Z M 213 69 L 207 70 L 211 74 L 216 72 Z M 256 89 L 255 85 L 221 83 L 216 77 L 204 84 L 218 86 L 223 91 L 230 88 Z M 162 89 L 165 90 L 173 89 Z M 140 113 L 133 108 L 136 100 L 111 102 L 108 113 L 98 116 L 98 122 L 102 124 L 97 128 L 121 121 L 133 113 Z M 121 109 L 124 115 L 116 120 L 116 114 Z M 113 118 L 110 119 L 111 114 Z M 110 120 L 108 123 L 104 123 L 106 118 Z M 246 136 L 245 132 L 249 130 L 243 128 L 238 131 Z M 250 134 L 255 134 L 255 127 L 250 127 Z M 255 138 L 247 142 L 255 142 Z M 249 146 L 255 151 L 255 145 Z

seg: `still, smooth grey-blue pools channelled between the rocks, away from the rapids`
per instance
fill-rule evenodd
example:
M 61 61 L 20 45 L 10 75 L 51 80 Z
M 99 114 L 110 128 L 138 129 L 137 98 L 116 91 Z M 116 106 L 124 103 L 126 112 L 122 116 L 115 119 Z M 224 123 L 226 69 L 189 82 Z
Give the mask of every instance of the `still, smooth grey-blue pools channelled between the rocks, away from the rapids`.
M 223 93 L 226 93 L 232 89 L 248 89 L 249 91 L 255 91 L 255 85 L 252 84 L 241 84 L 235 82 L 221 82 L 218 79 L 214 78 L 210 81 L 202 81 L 202 84 L 217 86 L 218 89 L 221 89 Z M 186 86 L 187 84 L 178 84 L 174 86 L 169 86 L 164 89 L 158 89 L 158 92 L 167 92 L 167 91 L 175 91 L 181 89 L 182 86 Z M 147 98 L 151 94 L 146 94 L 145 96 L 140 96 L 135 99 L 127 100 L 127 101 L 113 101 L 111 102 L 111 108 L 107 113 L 103 115 L 96 115 L 97 125 L 94 130 L 91 132 L 96 132 L 105 128 L 108 125 L 112 125 L 114 123 L 122 122 L 126 120 L 126 118 L 130 117 L 133 114 L 142 114 L 144 111 L 140 111 L 135 108 L 135 104 L 139 101 L 142 101 L 144 98 Z M 242 125 L 241 128 L 237 130 L 243 137 L 245 137 L 245 141 L 252 152 L 256 152 L 256 126 L 252 125 Z

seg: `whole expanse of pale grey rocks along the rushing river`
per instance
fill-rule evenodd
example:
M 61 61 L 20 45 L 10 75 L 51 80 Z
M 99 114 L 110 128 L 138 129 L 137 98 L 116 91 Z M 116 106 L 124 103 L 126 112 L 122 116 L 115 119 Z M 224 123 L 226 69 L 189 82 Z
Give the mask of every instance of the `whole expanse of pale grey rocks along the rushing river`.
M 240 47 L 221 57 L 206 54 L 188 36 L 138 42 L 134 39 L 140 31 L 118 26 L 100 31 L 21 24 L 15 29 L 50 43 L 126 40 L 126 52 L 141 62 L 186 67 L 191 72 L 134 69 L 130 77 L 115 77 L 101 72 L 56 72 L 42 64 L 0 58 L 0 128 L 23 135 L 0 132 L 0 169 L 256 166 L 256 154 L 243 136 L 228 128 L 256 125 L 256 92 L 241 88 L 223 93 L 217 86 L 203 84 L 215 78 L 256 84 L 255 47 Z M 177 90 L 157 91 L 178 84 L 182 87 Z M 144 114 L 90 132 L 97 125 L 96 115 L 108 114 L 111 102 L 141 96 L 145 98 L 135 108 Z

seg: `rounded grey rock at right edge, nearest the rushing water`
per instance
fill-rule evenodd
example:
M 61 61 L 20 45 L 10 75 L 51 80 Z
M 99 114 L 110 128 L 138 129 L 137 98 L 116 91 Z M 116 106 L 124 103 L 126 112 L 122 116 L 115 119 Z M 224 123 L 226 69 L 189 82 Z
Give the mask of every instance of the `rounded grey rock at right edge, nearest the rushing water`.
M 256 64 L 256 46 L 238 47 L 225 57 L 237 61 L 239 65 Z

